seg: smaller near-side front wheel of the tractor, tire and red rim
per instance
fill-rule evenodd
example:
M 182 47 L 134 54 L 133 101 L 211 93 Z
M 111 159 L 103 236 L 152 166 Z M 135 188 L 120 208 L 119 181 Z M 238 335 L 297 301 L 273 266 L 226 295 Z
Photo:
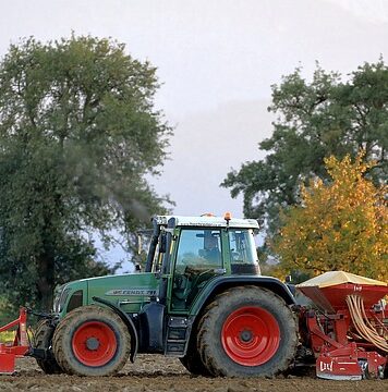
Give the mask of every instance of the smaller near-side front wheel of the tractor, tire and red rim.
M 83 306 L 60 321 L 52 350 L 58 364 L 69 375 L 111 376 L 128 362 L 131 335 L 112 310 Z

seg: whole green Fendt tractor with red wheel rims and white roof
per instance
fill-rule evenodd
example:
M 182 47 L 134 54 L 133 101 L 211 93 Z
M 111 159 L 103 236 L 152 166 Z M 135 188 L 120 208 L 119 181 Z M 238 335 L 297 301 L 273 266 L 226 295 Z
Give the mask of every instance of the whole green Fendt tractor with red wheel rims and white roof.
M 289 368 L 294 298 L 259 272 L 251 219 L 153 219 L 144 272 L 64 284 L 35 333 L 47 373 L 117 373 L 137 353 L 180 358 L 195 375 L 274 376 Z

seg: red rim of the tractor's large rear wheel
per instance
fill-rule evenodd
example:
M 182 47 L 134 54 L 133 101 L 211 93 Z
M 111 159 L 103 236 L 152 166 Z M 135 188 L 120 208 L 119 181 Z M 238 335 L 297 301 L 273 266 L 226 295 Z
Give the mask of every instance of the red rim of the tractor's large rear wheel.
M 243 366 L 258 366 L 268 362 L 277 352 L 280 329 L 269 311 L 244 306 L 227 318 L 221 341 L 232 360 Z

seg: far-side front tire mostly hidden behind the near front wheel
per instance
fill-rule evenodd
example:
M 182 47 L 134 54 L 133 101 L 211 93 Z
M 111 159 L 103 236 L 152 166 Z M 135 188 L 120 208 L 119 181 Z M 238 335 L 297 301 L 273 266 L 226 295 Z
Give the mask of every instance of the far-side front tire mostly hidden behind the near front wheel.
M 52 344 L 53 331 L 54 328 L 50 324 L 49 320 L 40 320 L 37 323 L 34 332 L 34 347 L 44 350 L 50 348 Z M 37 358 L 36 362 L 46 375 L 60 375 L 61 372 L 63 372 L 53 356 L 50 359 Z

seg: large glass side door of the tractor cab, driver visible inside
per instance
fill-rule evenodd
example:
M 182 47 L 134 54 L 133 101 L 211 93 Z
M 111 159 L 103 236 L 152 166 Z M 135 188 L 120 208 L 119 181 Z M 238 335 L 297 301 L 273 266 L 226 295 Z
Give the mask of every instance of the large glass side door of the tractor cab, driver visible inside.
M 174 309 L 187 309 L 206 282 L 222 270 L 221 232 L 184 229 L 179 237 L 173 274 Z

